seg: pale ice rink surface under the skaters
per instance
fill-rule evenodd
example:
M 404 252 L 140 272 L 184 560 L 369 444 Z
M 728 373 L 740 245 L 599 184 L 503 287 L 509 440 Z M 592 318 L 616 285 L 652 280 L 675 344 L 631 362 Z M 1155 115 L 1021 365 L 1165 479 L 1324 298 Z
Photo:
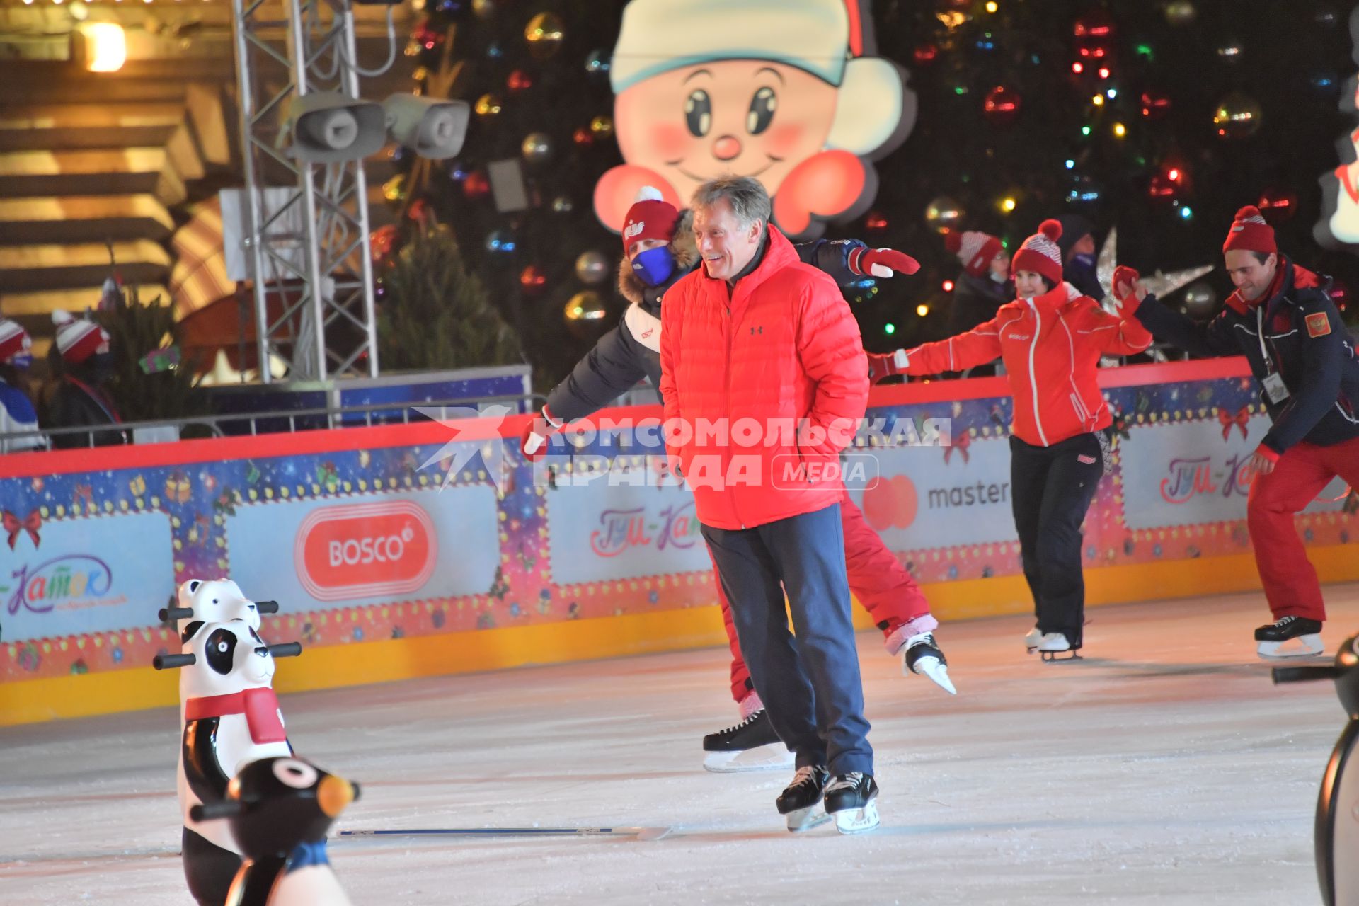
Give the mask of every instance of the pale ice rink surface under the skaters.
M 1326 590 L 1329 652 L 1359 585 Z M 859 637 L 882 827 L 791 835 L 791 772 L 713 774 L 723 649 L 283 698 L 300 754 L 357 781 L 342 827 L 671 826 L 652 842 L 332 838 L 356 905 L 1320 902 L 1311 820 L 1344 713 L 1272 686 L 1258 594 L 1089 611 L 1087 659 L 1031 621 L 946 623 L 959 694 Z M 280 663 L 306 670 L 306 655 Z M 189 903 L 173 709 L 5 728 L 0 902 Z

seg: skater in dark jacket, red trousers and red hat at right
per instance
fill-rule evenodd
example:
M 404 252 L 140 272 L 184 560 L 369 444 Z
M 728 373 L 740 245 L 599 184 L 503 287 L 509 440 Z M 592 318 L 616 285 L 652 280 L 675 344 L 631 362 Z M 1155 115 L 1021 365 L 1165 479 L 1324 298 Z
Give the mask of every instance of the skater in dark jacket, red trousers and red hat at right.
M 1114 295 L 1158 340 L 1200 356 L 1243 355 L 1250 363 L 1273 421 L 1250 458 L 1254 482 L 1246 505 L 1275 615 L 1256 630 L 1258 653 L 1317 655 L 1324 651 L 1325 604 L 1292 518 L 1336 475 L 1359 488 L 1359 360 L 1326 295 L 1329 278 L 1280 255 L 1257 208 L 1237 212 L 1223 254 L 1237 291 L 1207 325 L 1158 303 L 1132 268 L 1114 272 Z

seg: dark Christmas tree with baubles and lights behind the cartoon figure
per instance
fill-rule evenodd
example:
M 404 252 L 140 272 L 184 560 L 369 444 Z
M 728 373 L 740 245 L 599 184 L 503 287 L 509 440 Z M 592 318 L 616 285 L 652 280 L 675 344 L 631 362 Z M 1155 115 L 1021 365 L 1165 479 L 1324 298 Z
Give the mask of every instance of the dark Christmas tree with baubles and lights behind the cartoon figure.
M 745 5 L 692 8 L 705 16 L 699 24 L 720 30 L 723 15 Z M 387 194 L 450 224 L 542 387 L 622 307 L 609 287 L 620 240 L 595 216 L 593 193 L 624 160 L 610 65 L 626 7 L 427 0 L 406 49 L 424 91 L 463 98 L 474 113 L 462 155 L 409 168 Z M 790 0 L 780 15 L 822 7 Z M 1257 204 L 1287 254 L 1337 277 L 1337 302 L 1359 280 L 1349 255 L 1310 235 L 1321 208 L 1316 177 L 1335 168 L 1333 137 L 1345 128 L 1337 95 L 1352 64 L 1337 4 L 847 0 L 845 8 L 851 23 L 863 16 L 871 27 L 858 33 L 875 33 L 877 56 L 905 71 L 917 107 L 906 140 L 875 162 L 868 209 L 826 231 L 924 265 L 912 277 L 847 288 L 870 349 L 943 336 L 945 287 L 959 270 L 945 230 L 983 230 L 1014 249 L 1042 219 L 1082 213 L 1097 239 L 1117 225 L 1120 259 L 1144 272 L 1220 268 L 1231 215 Z M 849 101 L 863 98 L 840 99 Z M 779 124 L 781 111 L 765 114 Z M 677 128 L 684 117 L 677 109 Z M 768 118 L 752 115 L 750 129 L 768 128 Z M 522 205 L 503 185 L 492 192 L 497 162 L 514 162 L 511 182 L 522 175 Z M 1218 300 L 1231 289 L 1220 269 L 1207 280 Z

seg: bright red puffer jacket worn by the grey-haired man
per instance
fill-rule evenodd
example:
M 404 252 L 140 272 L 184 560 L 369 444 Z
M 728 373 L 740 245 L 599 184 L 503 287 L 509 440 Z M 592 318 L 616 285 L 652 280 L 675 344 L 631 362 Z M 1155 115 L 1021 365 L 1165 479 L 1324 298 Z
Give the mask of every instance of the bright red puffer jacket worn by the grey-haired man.
M 834 281 L 769 227 L 764 259 L 735 291 L 699 268 L 660 311 L 666 446 L 699 522 L 753 528 L 839 503 L 839 452 L 868 403 L 868 363 Z

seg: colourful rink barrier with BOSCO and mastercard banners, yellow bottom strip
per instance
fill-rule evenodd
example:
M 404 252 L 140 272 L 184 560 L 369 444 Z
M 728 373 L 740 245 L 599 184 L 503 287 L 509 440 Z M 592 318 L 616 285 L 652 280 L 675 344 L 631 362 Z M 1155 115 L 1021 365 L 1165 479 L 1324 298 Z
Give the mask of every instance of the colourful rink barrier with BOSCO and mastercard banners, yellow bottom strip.
M 1245 363 L 1132 365 L 1104 371 L 1101 380 L 1127 422 L 1123 455 L 1128 460 L 1118 462 L 1113 479 L 1102 484 L 1087 520 L 1089 602 L 1258 588 L 1241 488 L 1216 482 L 1218 488 L 1211 477 L 1180 481 L 1195 493 L 1199 485 L 1214 488 L 1214 493 L 1171 500 L 1174 507 L 1201 507 L 1205 513 L 1181 526 L 1157 523 L 1173 509 L 1165 500 L 1124 500 L 1129 486 L 1166 481 L 1147 466 L 1147 456 L 1159 455 L 1162 446 L 1181 444 L 1192 454 L 1196 444 L 1210 444 L 1211 456 L 1237 459 L 1239 451 L 1253 448 L 1264 417 Z M 1192 405 L 1176 399 L 1192 399 Z M 1008 522 L 1003 503 L 984 501 L 985 518 L 964 508 L 916 520 L 917 509 L 928 505 L 930 481 L 966 477 L 970 482 L 969 469 L 991 469 L 984 477 L 1003 481 L 996 473 L 996 463 L 1007 455 L 999 425 L 1008 421 L 1008 406 L 1003 378 L 877 387 L 871 397 L 870 414 L 951 417 L 955 435 L 970 439 L 947 460 L 936 448 L 875 451 L 889 465 L 904 465 L 877 496 L 860 496 L 870 523 L 877 520 L 945 621 L 1031 609 L 1017 545 L 1002 537 Z M 635 406 L 598 417 L 659 414 L 658 406 Z M 477 444 L 504 437 L 514 444 L 527 418 L 466 420 L 459 422 L 459 440 Z M 34 570 L 63 558 L 98 561 L 107 570 L 91 566 L 83 576 L 49 570 L 39 590 L 46 598 L 16 595 L 15 588 L 0 592 L 5 603 L 0 607 L 0 725 L 174 704 L 174 678 L 156 674 L 149 663 L 156 653 L 178 651 L 177 636 L 158 622 L 156 611 L 188 577 L 230 575 L 247 594 L 280 600 L 281 611 L 264 618 L 261 633 L 266 640 L 270 634 L 299 638 L 306 649 L 300 659 L 280 664 L 276 689 L 284 693 L 726 642 L 707 557 L 701 547 L 678 547 L 692 541 L 693 524 L 675 523 L 685 528 L 674 532 L 677 541 L 665 550 L 656 542 L 593 557 L 584 539 L 593 526 L 594 534 L 602 532 L 591 516 L 614 505 L 612 492 L 576 497 L 561 492 L 549 499 L 548 493 L 559 492 L 523 481 L 526 467 L 516 471 L 520 481 L 497 496 L 470 466 L 438 499 L 439 507 L 421 507 L 420 501 L 434 500 L 439 474 L 431 482 L 419 465 L 448 439 L 446 427 L 428 422 L 0 458 L 0 508 L 7 527 L 19 526 L 12 537 L 0 535 L 7 542 L 0 543 L 0 585 L 14 585 L 11 575 L 18 573 L 30 579 L 27 590 L 35 590 Z M 908 512 L 901 490 L 912 482 L 919 488 L 909 494 Z M 686 492 L 647 493 L 682 501 Z M 575 503 L 565 507 L 554 500 Z M 424 516 L 420 509 L 427 511 Z M 357 512 L 356 519 L 371 518 L 375 526 L 409 518 L 409 526 L 427 532 L 429 543 L 409 570 L 378 583 L 364 579 L 363 565 L 345 572 L 351 566 L 341 562 L 328 572 L 325 546 L 308 547 L 302 538 L 303 526 L 315 527 L 317 511 Z M 455 511 L 457 518 L 446 511 Z M 1140 522 L 1131 527 L 1124 523 L 1128 518 Z M 273 526 L 288 531 L 296 526 L 298 543 L 261 528 Z M 1318 504 L 1318 512 L 1299 518 L 1299 530 L 1324 581 L 1359 579 L 1359 557 L 1349 541 L 1359 524 L 1352 515 L 1339 512 L 1337 503 Z M 993 534 L 969 539 L 977 531 Z M 390 542 L 391 537 L 383 538 Z M 927 546 L 919 543 L 921 537 L 953 541 L 946 547 Z M 423 542 L 413 538 L 409 543 L 420 547 Z M 359 551 L 355 545 L 352 550 Z M 148 556 L 148 550 L 158 553 Z M 491 554 L 469 553 L 477 550 Z M 128 576 L 136 577 L 137 594 L 116 587 Z M 428 576 L 425 585 L 394 591 L 413 587 L 423 576 Z M 69 592 L 76 585 L 109 594 L 56 600 L 57 590 Z M 1242 614 L 1243 626 L 1264 614 L 1260 602 Z M 858 609 L 856 621 L 868 628 Z M 52 630 L 43 632 L 48 626 Z

